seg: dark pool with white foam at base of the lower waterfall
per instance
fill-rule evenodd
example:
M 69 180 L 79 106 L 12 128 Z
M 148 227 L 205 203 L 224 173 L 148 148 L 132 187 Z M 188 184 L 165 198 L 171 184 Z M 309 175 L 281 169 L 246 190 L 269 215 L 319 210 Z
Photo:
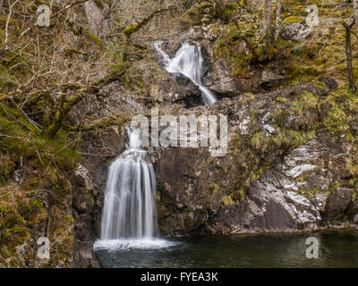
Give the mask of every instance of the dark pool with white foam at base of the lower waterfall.
M 309 237 L 319 258 L 307 258 Z M 106 242 L 103 242 L 106 244 Z M 96 256 L 106 268 L 358 267 L 358 231 L 119 240 Z

